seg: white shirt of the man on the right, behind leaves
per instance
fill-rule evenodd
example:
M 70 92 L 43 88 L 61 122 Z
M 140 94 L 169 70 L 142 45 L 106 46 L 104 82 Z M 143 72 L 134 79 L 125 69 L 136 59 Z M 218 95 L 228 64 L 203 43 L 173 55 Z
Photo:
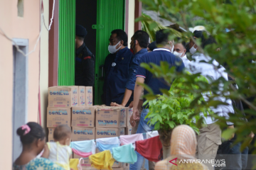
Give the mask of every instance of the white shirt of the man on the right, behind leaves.
M 205 55 L 196 52 L 194 55 L 192 55 L 192 58 L 195 59 L 195 61 L 191 61 L 188 64 L 187 69 L 188 72 L 191 72 L 191 74 L 196 74 L 198 72 L 201 72 L 201 75 L 203 77 L 206 77 L 206 79 L 208 79 L 208 77 L 210 77 L 211 79 L 213 79 L 213 81 L 219 79 L 220 77 L 224 77 L 225 80 L 228 81 L 228 73 L 225 72 L 225 68 L 220 66 L 220 68 L 218 70 L 215 69 L 214 66 L 218 66 L 219 63 L 215 60 L 213 60 L 213 64 L 208 63 L 211 58 L 210 57 L 206 57 Z M 205 62 L 201 62 L 201 61 L 205 61 Z M 214 66 L 213 66 L 214 65 Z M 208 79 L 208 81 L 210 81 L 210 79 Z M 220 91 L 223 90 L 223 84 L 219 84 L 219 89 Z M 228 93 L 227 93 L 228 95 Z M 208 101 L 208 97 L 206 95 L 203 94 L 203 98 Z M 224 105 L 220 105 L 217 108 L 213 108 L 211 107 L 211 110 L 214 113 L 217 113 L 219 116 L 223 116 L 226 119 L 229 118 L 228 113 L 234 113 L 234 109 L 232 106 L 232 101 L 230 99 L 227 99 L 222 96 L 220 94 L 220 96 L 215 98 L 216 101 L 222 101 L 222 102 L 226 102 L 228 103 L 227 106 Z M 209 116 L 205 117 L 203 115 L 203 113 L 201 113 L 201 116 L 203 116 L 203 118 L 206 120 L 207 124 L 211 124 L 211 123 L 215 123 L 217 120 L 212 120 L 212 118 L 210 118 Z M 233 125 L 233 123 L 227 122 L 228 125 Z

